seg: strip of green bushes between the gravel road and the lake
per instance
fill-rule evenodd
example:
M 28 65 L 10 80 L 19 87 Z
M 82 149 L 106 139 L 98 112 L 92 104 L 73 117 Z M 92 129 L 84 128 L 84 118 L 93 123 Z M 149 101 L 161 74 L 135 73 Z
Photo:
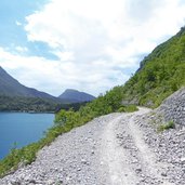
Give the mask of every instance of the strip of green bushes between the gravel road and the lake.
M 36 159 L 38 150 L 43 146 L 50 145 L 62 133 L 70 131 L 72 128 L 82 125 L 93 118 L 117 111 L 121 106 L 120 87 L 116 87 L 104 96 L 100 96 L 78 111 L 72 109 L 62 109 L 55 116 L 55 124 L 49 129 L 43 138 L 21 149 L 14 147 L 10 155 L 0 161 L 0 175 L 16 170 L 19 164 L 28 164 Z

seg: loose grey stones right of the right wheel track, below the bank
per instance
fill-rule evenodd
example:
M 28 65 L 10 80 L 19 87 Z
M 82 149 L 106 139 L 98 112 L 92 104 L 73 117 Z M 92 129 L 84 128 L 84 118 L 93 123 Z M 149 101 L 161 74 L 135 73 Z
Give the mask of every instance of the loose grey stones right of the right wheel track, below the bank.
M 161 174 L 169 177 L 171 183 L 183 185 L 185 182 L 185 129 L 169 129 L 158 132 L 160 121 L 160 114 L 154 111 L 143 116 L 138 123 L 145 133 L 146 144 L 157 156 L 157 161 L 167 167 Z

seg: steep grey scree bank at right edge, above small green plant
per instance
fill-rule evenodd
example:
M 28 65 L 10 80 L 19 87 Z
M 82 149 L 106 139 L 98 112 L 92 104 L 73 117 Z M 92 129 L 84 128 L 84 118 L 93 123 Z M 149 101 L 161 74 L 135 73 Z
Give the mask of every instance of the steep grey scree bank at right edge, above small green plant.
M 164 100 L 159 111 L 167 121 L 173 120 L 177 124 L 185 125 L 185 88 Z

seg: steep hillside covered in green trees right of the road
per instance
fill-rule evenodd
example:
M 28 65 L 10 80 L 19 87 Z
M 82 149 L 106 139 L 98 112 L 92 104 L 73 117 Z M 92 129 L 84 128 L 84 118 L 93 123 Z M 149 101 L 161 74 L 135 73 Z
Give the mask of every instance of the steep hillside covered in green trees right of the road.
M 123 103 L 157 107 L 185 85 L 185 27 L 145 57 L 121 88 Z

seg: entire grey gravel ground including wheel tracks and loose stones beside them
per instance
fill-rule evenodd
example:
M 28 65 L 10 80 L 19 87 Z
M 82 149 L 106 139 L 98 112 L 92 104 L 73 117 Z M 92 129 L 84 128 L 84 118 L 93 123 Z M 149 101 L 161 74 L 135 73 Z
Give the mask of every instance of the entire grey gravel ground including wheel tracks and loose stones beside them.
M 74 129 L 0 185 L 184 185 L 185 131 L 157 133 L 148 113 L 110 114 Z

